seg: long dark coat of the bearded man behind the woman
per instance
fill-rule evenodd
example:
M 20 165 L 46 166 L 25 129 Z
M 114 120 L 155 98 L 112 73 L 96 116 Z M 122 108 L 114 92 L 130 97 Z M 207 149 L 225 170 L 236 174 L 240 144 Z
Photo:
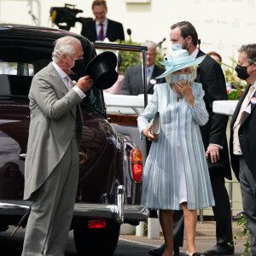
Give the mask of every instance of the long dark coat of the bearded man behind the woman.
M 205 53 L 199 50 L 196 57 L 202 55 L 205 55 Z M 231 179 L 230 158 L 226 138 L 228 117 L 212 112 L 213 101 L 228 99 L 224 73 L 219 64 L 207 55 L 197 69 L 195 82 L 202 84 L 202 88 L 205 91 L 204 100 L 209 113 L 207 125 L 200 126 L 205 149 L 207 150 L 209 143 L 218 144 L 224 148 L 219 151 L 220 160 L 217 163 L 212 164 L 210 160 L 208 161 L 209 171 L 216 172 L 215 168 L 218 168 L 218 170 L 221 170 L 220 172 L 223 172 L 224 177 Z

